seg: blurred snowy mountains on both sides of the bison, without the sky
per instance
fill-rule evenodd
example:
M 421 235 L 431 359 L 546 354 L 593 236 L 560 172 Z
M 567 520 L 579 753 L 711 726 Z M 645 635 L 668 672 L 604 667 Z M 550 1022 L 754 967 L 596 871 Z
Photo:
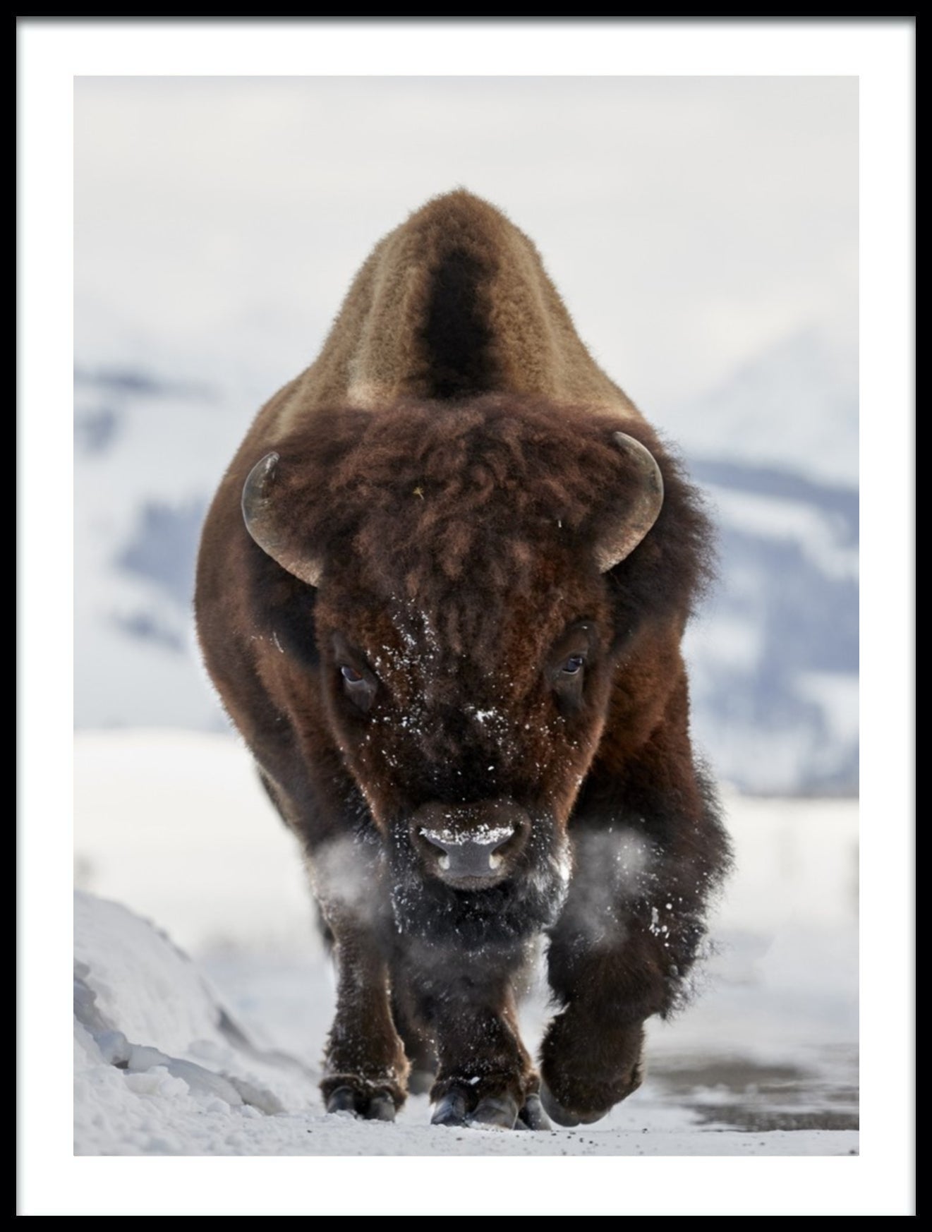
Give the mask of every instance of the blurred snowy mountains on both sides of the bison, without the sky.
M 193 638 L 197 538 L 276 384 L 79 365 L 78 727 L 225 726 Z M 720 583 L 687 641 L 698 745 L 745 791 L 856 791 L 854 365 L 798 334 L 651 418 L 720 527 Z

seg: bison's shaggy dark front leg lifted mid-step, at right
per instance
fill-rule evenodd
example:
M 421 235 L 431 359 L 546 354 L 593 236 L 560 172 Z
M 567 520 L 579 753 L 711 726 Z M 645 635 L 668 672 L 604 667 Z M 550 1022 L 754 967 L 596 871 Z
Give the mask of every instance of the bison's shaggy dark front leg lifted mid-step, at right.
M 572 886 L 548 952 L 563 1010 L 540 1047 L 543 1104 L 560 1125 L 600 1120 L 641 1083 L 644 1023 L 682 998 L 726 862 L 720 832 L 708 832 L 715 843 L 694 841 L 704 828 L 685 823 L 685 840 L 673 833 L 666 848 L 641 818 L 576 834 Z

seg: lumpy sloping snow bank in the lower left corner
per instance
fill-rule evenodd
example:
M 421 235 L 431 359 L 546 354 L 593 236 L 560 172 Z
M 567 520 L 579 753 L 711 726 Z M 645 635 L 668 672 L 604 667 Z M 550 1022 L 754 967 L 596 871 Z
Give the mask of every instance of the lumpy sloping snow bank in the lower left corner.
M 75 894 L 75 1153 L 249 1152 L 241 1125 L 313 1098 L 314 1076 L 263 1055 L 166 934 Z

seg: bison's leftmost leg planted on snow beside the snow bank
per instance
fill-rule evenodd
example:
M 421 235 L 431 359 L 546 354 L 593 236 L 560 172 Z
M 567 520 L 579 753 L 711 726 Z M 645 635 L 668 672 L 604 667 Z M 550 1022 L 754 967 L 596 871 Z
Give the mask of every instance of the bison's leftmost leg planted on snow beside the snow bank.
M 388 963 L 367 922 L 332 910 L 326 918 L 337 971 L 320 1083 L 326 1110 L 392 1121 L 405 1100 L 409 1063 L 392 1019 Z

